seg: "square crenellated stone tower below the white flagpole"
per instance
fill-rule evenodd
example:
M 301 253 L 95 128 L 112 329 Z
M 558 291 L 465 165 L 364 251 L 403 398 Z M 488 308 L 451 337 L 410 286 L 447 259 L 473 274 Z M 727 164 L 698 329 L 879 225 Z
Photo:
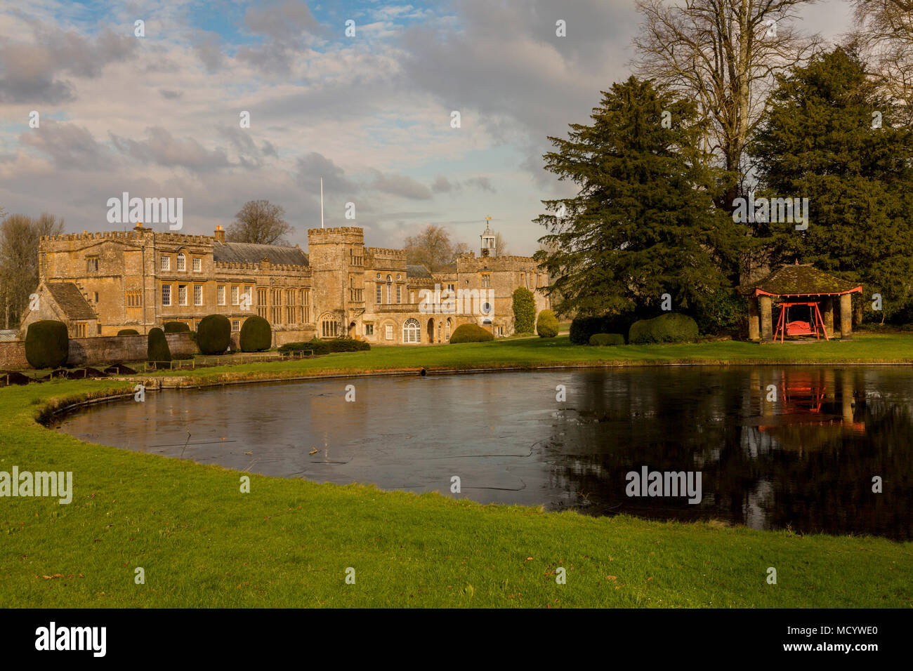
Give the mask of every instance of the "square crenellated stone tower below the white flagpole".
M 309 228 L 308 254 L 317 335 L 353 336 L 364 312 L 364 229 Z

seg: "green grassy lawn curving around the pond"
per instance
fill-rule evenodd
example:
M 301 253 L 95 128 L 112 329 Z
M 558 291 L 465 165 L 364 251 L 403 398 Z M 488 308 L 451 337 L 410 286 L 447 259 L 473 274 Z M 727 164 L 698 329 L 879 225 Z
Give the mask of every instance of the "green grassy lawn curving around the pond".
M 913 360 L 913 337 L 572 347 L 566 338 L 375 348 L 182 374 L 470 369 L 602 362 Z M 73 472 L 73 501 L 0 498 L 0 607 L 713 606 L 913 603 L 913 543 L 481 506 L 437 494 L 250 476 L 81 443 L 35 421 L 53 400 L 133 383 L 0 389 L 0 471 Z M 167 392 L 165 392 L 167 393 Z M 556 567 L 566 584 L 555 581 Z M 134 583 L 142 567 L 146 583 Z M 352 567 L 355 583 L 346 584 Z M 777 584 L 766 582 L 777 570 Z

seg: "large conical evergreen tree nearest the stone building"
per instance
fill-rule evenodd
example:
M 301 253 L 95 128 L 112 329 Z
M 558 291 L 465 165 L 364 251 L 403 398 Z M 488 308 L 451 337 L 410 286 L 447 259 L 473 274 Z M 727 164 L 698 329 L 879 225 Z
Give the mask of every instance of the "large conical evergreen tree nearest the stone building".
M 549 212 L 536 257 L 556 278 L 564 314 L 659 309 L 699 312 L 726 296 L 739 228 L 715 208 L 724 173 L 700 149 L 706 122 L 696 107 L 651 80 L 634 77 L 603 91 L 593 124 L 572 124 L 546 170 L 579 188 L 543 201 Z M 743 234 L 744 235 L 744 234 Z

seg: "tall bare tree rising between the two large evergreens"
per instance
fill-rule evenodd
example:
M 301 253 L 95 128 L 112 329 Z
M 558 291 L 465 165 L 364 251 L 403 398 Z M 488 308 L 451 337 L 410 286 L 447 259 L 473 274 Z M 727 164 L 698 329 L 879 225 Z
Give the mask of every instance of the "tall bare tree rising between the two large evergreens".
M 718 205 L 747 189 L 745 144 L 761 117 L 773 76 L 813 54 L 819 40 L 792 25 L 815 0 L 637 0 L 645 21 L 635 37 L 639 73 L 698 103 L 712 121 L 708 152 L 732 175 Z M 674 122 L 674 120 L 672 120 Z

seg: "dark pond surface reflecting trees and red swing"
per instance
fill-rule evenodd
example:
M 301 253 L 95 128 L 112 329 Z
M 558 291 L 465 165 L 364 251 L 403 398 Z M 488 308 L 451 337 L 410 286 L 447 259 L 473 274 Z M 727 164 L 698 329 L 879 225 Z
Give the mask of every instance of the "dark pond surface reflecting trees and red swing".
M 346 383 L 355 383 L 357 403 L 344 401 Z M 566 403 L 555 401 L 557 384 Z M 62 428 L 280 477 L 593 515 L 913 537 L 913 377 L 904 369 L 364 378 L 146 399 L 93 406 Z M 642 467 L 701 471 L 702 500 L 627 497 L 625 475 Z M 450 492 L 453 476 L 460 494 Z M 875 476 L 883 493 L 872 491 Z

